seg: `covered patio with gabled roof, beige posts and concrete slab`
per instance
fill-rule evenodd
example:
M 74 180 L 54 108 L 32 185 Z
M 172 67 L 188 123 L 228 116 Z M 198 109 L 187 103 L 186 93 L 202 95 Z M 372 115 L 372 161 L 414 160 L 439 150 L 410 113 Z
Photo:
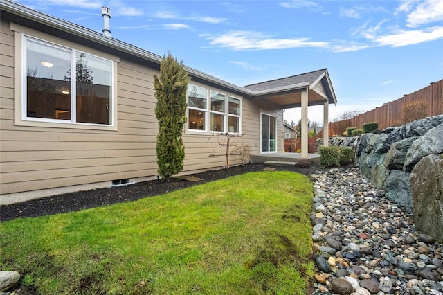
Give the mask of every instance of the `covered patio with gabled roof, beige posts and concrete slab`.
M 308 107 L 314 105 L 323 105 L 323 142 L 325 145 L 329 142 L 329 105 L 336 105 L 337 100 L 332 87 L 332 82 L 329 78 L 327 69 L 320 69 L 309 73 L 300 75 L 293 75 L 291 77 L 282 78 L 278 80 L 271 80 L 257 84 L 247 85 L 244 88 L 253 91 L 254 95 L 251 97 L 257 102 L 266 102 L 277 105 L 282 110 L 301 107 L 301 140 L 302 152 L 296 153 L 278 153 L 282 149 L 277 149 L 273 152 L 260 152 L 260 154 L 253 155 L 251 161 L 259 161 L 264 157 L 280 158 L 282 161 L 296 159 L 314 159 L 315 156 L 308 154 Z M 283 145 L 283 136 L 275 138 L 278 140 L 278 146 Z M 318 156 L 317 156 L 318 157 Z M 255 159 L 255 160 L 253 160 Z M 277 160 L 275 160 L 277 161 Z M 255 162 L 264 163 L 264 162 Z

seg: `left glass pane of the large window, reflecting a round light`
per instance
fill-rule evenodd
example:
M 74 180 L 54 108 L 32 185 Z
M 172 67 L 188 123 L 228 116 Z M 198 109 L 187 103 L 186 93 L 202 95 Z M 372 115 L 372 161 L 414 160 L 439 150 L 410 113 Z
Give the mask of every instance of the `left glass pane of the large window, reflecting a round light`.
M 71 120 L 71 51 L 26 40 L 26 116 Z

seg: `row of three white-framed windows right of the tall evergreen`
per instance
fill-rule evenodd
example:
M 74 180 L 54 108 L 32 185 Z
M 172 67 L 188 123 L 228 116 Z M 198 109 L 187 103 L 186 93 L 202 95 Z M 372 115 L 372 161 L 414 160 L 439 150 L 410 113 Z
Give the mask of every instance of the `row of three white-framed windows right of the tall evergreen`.
M 209 93 L 209 96 L 208 96 Z M 242 100 L 188 84 L 188 130 L 241 132 Z

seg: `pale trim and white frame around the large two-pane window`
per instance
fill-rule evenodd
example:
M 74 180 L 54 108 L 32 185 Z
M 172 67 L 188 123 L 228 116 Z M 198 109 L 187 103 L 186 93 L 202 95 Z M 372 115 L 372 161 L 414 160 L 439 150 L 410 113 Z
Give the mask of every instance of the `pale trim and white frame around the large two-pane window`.
M 118 118 L 117 118 L 117 69 L 120 58 L 109 53 L 97 51 L 88 46 L 83 46 L 75 42 L 55 37 L 42 33 L 33 28 L 21 26 L 19 24 L 11 23 L 10 29 L 15 32 L 15 116 L 14 125 L 17 126 L 31 126 L 31 127 L 58 127 L 69 129 L 91 129 L 91 130 L 108 130 L 117 131 Z M 36 42 L 42 42 L 57 48 L 67 48 L 73 51 L 73 60 L 71 62 L 75 65 L 75 52 L 82 52 L 99 59 L 108 60 L 111 62 L 111 98 L 109 101 L 109 125 L 96 124 L 96 123 L 76 123 L 72 120 L 57 120 L 48 118 L 35 118 L 27 117 L 26 115 L 26 39 L 33 39 Z M 75 66 L 74 66 L 75 69 Z M 72 71 L 72 70 L 71 70 Z M 75 73 L 75 72 L 74 72 Z M 72 85 L 71 84 L 71 88 Z M 71 89 L 72 90 L 72 89 Z M 72 92 L 71 92 L 72 93 Z M 71 99 L 71 104 L 75 104 L 75 98 Z M 75 109 L 75 108 L 74 108 Z M 73 111 L 71 107 L 71 112 Z M 73 116 L 73 115 L 72 115 Z M 71 117 L 72 118 L 72 117 Z

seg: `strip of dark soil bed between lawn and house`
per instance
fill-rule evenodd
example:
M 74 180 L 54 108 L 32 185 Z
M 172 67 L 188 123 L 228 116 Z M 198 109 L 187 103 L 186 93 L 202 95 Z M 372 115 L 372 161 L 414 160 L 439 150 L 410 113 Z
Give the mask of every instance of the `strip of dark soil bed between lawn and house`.
M 197 184 L 224 179 L 226 177 L 240 175 L 246 172 L 261 171 L 265 167 L 263 164 L 248 164 L 246 166 L 234 166 L 228 170 L 212 170 L 190 175 L 203 179 L 192 182 L 180 178 L 172 178 L 169 182 L 164 181 L 143 181 L 129 186 L 120 186 L 117 188 L 100 188 L 96 190 L 87 190 L 76 193 L 67 193 L 64 195 L 55 195 L 34 199 L 28 202 L 0 206 L 0 221 L 13 220 L 23 217 L 37 217 L 56 213 L 66 213 L 70 211 L 79 211 L 86 208 L 98 206 L 108 206 L 120 202 L 134 201 L 143 197 L 152 197 L 169 193 L 173 190 L 188 188 Z M 278 166 L 276 170 L 289 170 L 304 175 L 311 175 L 316 170 L 323 170 L 319 166 L 294 167 Z

